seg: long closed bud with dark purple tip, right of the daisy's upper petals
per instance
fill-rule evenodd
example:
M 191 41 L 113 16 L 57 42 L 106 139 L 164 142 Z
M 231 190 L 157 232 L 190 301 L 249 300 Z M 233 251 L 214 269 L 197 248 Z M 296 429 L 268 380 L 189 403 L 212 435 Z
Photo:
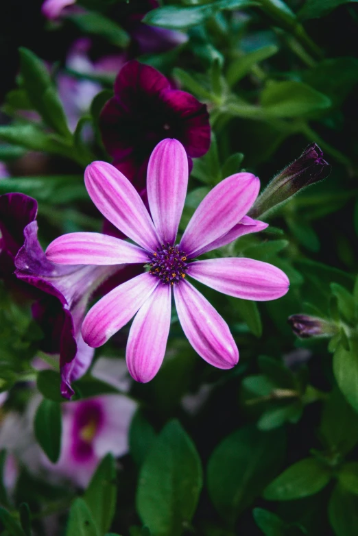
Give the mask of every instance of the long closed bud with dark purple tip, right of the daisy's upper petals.
M 323 159 L 320 147 L 316 143 L 311 143 L 297 160 L 267 184 L 248 215 L 252 218 L 262 217 L 302 188 L 325 179 L 330 171 L 331 165 Z

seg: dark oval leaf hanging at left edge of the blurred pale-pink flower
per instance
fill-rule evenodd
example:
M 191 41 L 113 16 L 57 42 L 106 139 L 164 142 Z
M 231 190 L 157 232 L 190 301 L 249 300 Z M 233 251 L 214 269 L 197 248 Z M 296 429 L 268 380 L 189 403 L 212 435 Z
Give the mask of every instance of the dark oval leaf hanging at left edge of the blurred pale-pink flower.
M 45 398 L 38 406 L 34 421 L 36 439 L 52 463 L 58 461 L 61 448 L 61 409 L 58 402 Z

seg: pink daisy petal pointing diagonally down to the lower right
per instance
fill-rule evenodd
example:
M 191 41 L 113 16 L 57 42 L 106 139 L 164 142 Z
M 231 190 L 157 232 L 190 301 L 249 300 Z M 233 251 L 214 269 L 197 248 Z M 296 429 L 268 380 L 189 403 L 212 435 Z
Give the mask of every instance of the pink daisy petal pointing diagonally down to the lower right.
M 239 351 L 217 310 L 187 281 L 174 287 L 174 297 L 182 330 L 195 352 L 219 369 L 234 367 Z

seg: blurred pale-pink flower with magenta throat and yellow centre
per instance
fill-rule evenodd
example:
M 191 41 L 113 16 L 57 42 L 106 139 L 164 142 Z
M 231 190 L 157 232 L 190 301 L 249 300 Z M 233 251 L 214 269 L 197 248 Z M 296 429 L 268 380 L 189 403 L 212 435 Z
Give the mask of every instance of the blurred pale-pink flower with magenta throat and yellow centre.
M 128 430 L 136 403 L 124 395 L 103 395 L 62 405 L 62 444 L 51 471 L 86 487 L 101 459 L 128 452 Z

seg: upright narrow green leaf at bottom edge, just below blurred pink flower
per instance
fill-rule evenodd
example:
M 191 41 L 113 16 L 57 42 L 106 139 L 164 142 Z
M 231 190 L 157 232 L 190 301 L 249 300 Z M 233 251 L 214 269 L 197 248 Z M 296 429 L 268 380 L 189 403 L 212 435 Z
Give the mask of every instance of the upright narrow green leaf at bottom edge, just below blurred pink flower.
M 83 496 L 99 534 L 108 531 L 117 500 L 116 467 L 112 454 L 101 461 Z

